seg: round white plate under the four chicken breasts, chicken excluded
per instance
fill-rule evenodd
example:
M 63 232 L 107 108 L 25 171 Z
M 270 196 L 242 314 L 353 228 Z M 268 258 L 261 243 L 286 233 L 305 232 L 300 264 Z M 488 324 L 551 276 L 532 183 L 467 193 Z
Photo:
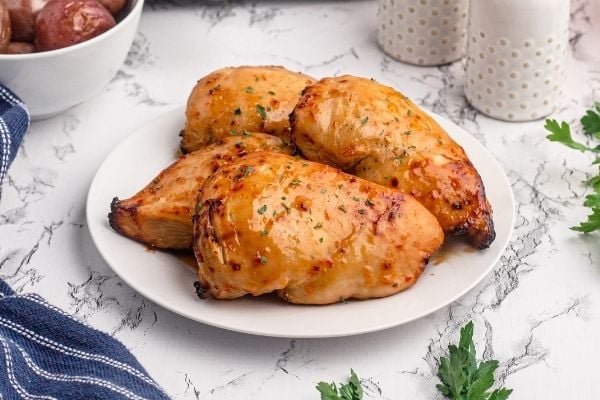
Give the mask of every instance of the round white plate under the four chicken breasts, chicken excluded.
M 493 268 L 511 236 L 514 200 L 493 156 L 471 135 L 430 113 L 459 144 L 481 174 L 494 209 L 496 240 L 484 251 L 454 243 L 433 260 L 410 289 L 391 297 L 328 306 L 286 304 L 274 297 L 200 300 L 194 271 L 178 257 L 127 239 L 108 225 L 113 197 L 127 198 L 176 158 L 183 108 L 138 129 L 106 158 L 90 187 L 87 219 L 92 239 L 108 265 L 129 286 L 161 306 L 205 324 L 255 335 L 315 338 L 378 331 L 423 317 L 467 293 Z

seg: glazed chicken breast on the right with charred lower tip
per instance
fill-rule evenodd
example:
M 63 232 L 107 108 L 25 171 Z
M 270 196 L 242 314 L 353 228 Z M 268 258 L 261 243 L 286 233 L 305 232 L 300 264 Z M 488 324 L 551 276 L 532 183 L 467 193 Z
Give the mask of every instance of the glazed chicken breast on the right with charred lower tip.
M 483 183 L 462 147 L 390 87 L 353 76 L 308 86 L 292 139 L 310 160 L 413 195 L 447 233 L 482 249 L 495 238 Z

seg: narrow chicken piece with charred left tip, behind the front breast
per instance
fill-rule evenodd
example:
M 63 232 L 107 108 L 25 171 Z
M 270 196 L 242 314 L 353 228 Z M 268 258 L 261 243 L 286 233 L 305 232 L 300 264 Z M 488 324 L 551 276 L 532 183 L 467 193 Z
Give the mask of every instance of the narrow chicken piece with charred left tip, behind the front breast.
M 182 156 L 133 197 L 115 198 L 110 226 L 153 247 L 191 249 L 192 217 L 204 180 L 223 165 L 260 150 L 292 152 L 288 144 L 264 133 L 222 139 Z

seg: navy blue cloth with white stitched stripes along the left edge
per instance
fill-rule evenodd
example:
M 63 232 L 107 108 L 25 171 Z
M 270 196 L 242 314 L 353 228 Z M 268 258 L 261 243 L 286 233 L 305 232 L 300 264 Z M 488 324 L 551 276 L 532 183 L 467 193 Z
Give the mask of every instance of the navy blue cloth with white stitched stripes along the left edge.
M 0 85 L 0 185 L 28 127 Z M 0 279 L 0 400 L 168 398 L 117 340 Z

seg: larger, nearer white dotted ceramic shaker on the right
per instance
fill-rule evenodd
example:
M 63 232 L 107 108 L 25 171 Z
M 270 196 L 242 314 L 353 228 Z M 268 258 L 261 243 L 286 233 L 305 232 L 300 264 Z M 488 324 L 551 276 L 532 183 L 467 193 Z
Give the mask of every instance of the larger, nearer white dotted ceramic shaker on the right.
M 465 94 L 506 121 L 545 117 L 563 94 L 569 0 L 471 0 Z

